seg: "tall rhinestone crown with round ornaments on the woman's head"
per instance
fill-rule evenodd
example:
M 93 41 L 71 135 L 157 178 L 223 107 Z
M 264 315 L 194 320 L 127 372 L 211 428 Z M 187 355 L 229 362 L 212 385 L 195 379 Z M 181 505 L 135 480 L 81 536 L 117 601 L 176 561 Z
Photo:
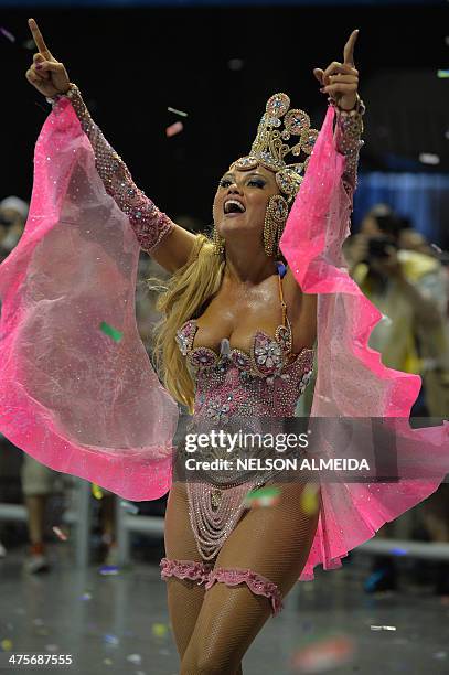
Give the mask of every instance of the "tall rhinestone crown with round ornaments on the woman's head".
M 287 94 L 274 94 L 268 99 L 249 154 L 238 159 L 232 167 L 246 171 L 261 164 L 275 171 L 280 191 L 287 195 L 287 201 L 291 202 L 309 163 L 309 157 L 300 161 L 300 154 L 311 154 L 318 131 L 310 128 L 310 117 L 307 113 L 289 108 L 290 98 Z M 292 146 L 287 143 L 291 138 L 295 140 Z M 290 153 L 298 160 L 287 164 L 285 158 Z

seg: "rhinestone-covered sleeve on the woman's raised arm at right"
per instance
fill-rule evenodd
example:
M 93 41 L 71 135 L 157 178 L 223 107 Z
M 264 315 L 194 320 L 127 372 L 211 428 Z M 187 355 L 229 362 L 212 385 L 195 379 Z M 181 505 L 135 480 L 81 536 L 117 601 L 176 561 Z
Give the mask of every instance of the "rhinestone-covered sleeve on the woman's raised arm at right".
M 357 95 L 357 101 L 353 110 L 334 107 L 336 110 L 336 148 L 346 158 L 342 180 L 348 194 L 352 199 L 357 185 L 359 153 L 364 142 L 361 140 L 361 136 L 363 133 L 365 106 Z

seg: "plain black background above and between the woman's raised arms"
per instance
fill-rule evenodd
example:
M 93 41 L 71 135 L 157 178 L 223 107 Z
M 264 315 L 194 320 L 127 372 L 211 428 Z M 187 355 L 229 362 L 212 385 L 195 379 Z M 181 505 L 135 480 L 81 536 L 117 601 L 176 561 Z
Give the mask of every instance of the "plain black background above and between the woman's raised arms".
M 15 43 L 0 35 L 0 195 L 30 197 L 33 146 L 50 109 L 24 78 L 33 54 L 29 15 L 136 183 L 172 217 L 211 222 L 215 185 L 249 150 L 275 92 L 288 93 L 321 125 L 325 97 L 312 68 L 341 60 L 354 28 L 367 106 L 361 170 L 449 172 L 449 79 L 437 78 L 449 67 L 449 3 L 3 8 L 0 25 Z M 232 69 L 237 58 L 242 67 Z M 184 131 L 167 139 L 165 127 L 178 119 Z M 424 165 L 420 152 L 440 163 Z

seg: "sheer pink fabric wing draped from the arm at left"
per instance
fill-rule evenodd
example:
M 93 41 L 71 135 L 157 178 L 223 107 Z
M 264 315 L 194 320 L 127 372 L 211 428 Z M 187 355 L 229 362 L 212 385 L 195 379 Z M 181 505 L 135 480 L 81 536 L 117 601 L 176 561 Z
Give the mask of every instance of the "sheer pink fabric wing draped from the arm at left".
M 178 406 L 137 330 L 138 257 L 61 100 L 36 143 L 24 234 L 0 266 L 0 430 L 52 469 L 153 500 L 170 488 Z

